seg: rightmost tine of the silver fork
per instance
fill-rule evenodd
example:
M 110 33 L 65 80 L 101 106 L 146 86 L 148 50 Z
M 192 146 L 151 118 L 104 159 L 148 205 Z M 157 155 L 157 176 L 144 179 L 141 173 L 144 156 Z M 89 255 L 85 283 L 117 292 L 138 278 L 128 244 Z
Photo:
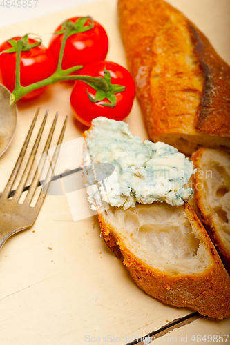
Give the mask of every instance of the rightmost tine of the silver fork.
M 64 132 L 66 130 L 66 124 L 67 124 L 67 119 L 68 119 L 68 116 L 66 116 L 66 119 L 64 121 L 64 125 L 62 127 L 62 130 L 61 130 L 61 134 L 59 136 L 59 139 L 57 141 L 57 146 L 55 148 L 55 153 L 52 157 L 52 161 L 50 162 L 50 168 L 48 170 L 48 173 L 46 175 L 46 180 L 44 181 L 44 186 L 46 186 L 46 191 L 48 190 L 48 186 L 50 184 L 50 181 L 52 179 L 52 175 L 53 175 L 53 172 L 54 172 L 54 169 L 55 169 L 55 165 L 56 165 L 56 162 L 57 162 L 57 157 L 59 155 L 59 150 L 61 148 L 61 143 L 62 143 L 62 140 L 63 140 L 63 137 L 64 137 Z M 43 189 L 41 189 L 41 192 L 39 194 L 39 198 L 37 199 L 37 204 L 35 205 L 35 208 L 37 208 L 37 213 L 39 213 L 39 210 L 41 208 L 41 205 L 43 204 L 43 201 L 46 197 L 46 193 L 44 192 Z

